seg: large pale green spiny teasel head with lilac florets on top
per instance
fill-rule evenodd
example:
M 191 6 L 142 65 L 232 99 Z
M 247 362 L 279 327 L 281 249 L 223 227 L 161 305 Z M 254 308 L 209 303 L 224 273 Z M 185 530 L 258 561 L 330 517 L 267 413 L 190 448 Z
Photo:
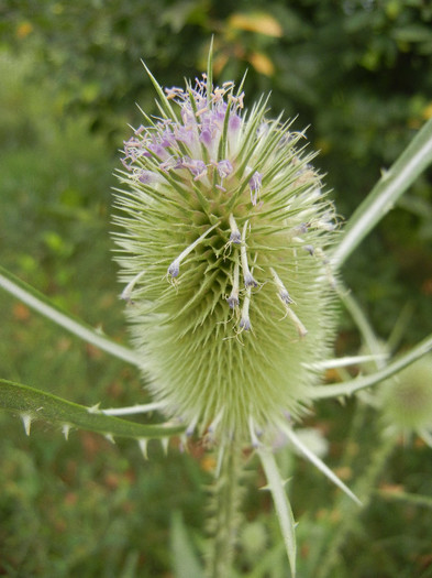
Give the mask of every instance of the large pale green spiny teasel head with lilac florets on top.
M 124 143 L 117 195 L 133 341 L 189 433 L 251 440 L 313 397 L 334 334 L 333 208 L 267 99 L 247 112 L 209 73 L 165 94 L 151 78 L 159 116 Z

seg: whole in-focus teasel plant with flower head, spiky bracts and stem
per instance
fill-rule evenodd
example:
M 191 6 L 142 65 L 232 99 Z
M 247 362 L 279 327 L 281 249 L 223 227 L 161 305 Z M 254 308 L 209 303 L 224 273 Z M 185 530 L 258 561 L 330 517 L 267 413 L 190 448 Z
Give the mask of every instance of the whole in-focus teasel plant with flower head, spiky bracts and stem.
M 243 83 L 237 89 L 233 83 L 213 86 L 211 53 L 207 74 L 185 89 L 164 91 L 147 74 L 159 113 L 143 112 L 143 124 L 124 143 L 114 217 L 134 350 L 71 319 L 3 270 L 0 284 L 137 366 L 154 401 L 120 410 L 84 407 L 3 381 L 0 403 L 20 413 L 27 433 L 33 419 L 44 418 L 58 423 L 66 437 L 71 427 L 82 427 L 110 439 L 135 438 L 144 454 L 151 438 L 162 439 L 165 448 L 174 435 L 184 444 L 192 435 L 202 438 L 219 458 L 208 555 L 213 577 L 230 574 L 243 450 L 252 447 L 274 498 L 293 576 L 295 522 L 275 440 L 284 435 L 356 500 L 296 435 L 295 424 L 313 401 L 374 385 L 432 346 L 429 337 L 370 375 L 319 383 L 323 369 L 358 361 L 329 359 L 335 296 L 350 301 L 337 270 L 431 162 L 432 121 L 339 233 L 303 133 L 281 118 L 272 120 L 267 98 L 247 110 Z M 154 410 L 168 423 L 117 417 Z

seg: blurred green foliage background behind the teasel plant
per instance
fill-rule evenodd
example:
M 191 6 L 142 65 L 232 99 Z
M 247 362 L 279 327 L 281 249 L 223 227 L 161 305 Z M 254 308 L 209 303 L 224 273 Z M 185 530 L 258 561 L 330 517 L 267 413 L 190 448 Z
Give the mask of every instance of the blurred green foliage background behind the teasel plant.
M 246 106 L 272 91 L 274 116 L 285 110 L 297 117 L 296 129 L 310 127 L 311 146 L 321 151 L 315 165 L 342 218 L 432 117 L 427 1 L 4 0 L 0 263 L 119 342 L 128 335 L 111 261 L 112 174 L 131 133 L 128 123 L 141 123 L 134 103 L 155 111 L 140 59 L 163 86 L 181 85 L 204 68 L 212 34 L 218 83 L 240 80 L 247 68 Z M 416 183 L 343 270 L 381 338 L 409 312 L 407 347 L 431 330 L 431 175 Z M 2 378 L 88 405 L 146 401 L 134 368 L 3 292 L 0 316 Z M 337 351 L 352 353 L 358 345 L 342 316 Z M 311 419 L 331 441 L 326 460 L 333 467 L 353 411 L 326 403 Z M 362 441 L 374 443 L 373 428 Z M 174 576 L 177 511 L 193 544 L 202 542 L 209 464 L 200 447 L 191 455 L 174 448 L 165 458 L 151 446 L 152 459 L 144 462 L 133 444 L 112 446 L 90 434 L 71 433 L 65 443 L 54 428 L 35 425 L 26 438 L 4 413 L 0 444 L 0 576 Z M 317 527 L 331 533 L 337 509 L 332 517 L 335 491 L 321 475 L 303 464 L 296 468 L 292 501 L 303 524 L 300 568 L 307 568 Z M 432 495 L 431 480 L 431 455 L 414 444 L 398 448 L 379 483 Z M 266 549 L 277 560 L 256 576 L 277 578 L 287 570 L 269 511 L 268 497 L 252 489 L 246 516 L 264 528 Z M 430 509 L 377 499 L 351 530 L 334 576 L 432 576 Z M 239 572 L 251 575 L 257 561 L 251 557 L 244 541 Z

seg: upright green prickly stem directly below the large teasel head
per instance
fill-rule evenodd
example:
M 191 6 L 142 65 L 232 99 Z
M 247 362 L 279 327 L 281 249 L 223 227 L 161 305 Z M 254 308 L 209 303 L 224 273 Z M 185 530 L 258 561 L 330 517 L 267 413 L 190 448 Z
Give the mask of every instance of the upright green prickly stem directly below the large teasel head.
M 240 523 L 242 499 L 242 455 L 235 443 L 223 450 L 219 477 L 211 501 L 211 549 L 207 559 L 208 578 L 229 578 Z

